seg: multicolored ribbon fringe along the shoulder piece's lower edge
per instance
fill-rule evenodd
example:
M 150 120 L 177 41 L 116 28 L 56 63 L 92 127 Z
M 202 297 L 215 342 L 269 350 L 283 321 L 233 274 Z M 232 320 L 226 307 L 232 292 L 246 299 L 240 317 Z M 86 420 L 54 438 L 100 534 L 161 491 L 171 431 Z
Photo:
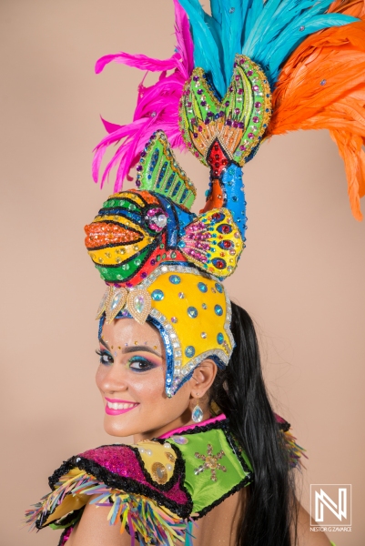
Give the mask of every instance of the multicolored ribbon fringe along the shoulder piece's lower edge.
M 156 502 L 133 493 L 125 493 L 121 490 L 113 490 L 104 483 L 100 483 L 80 470 L 79 473 L 66 474 L 56 484 L 56 490 L 42 498 L 41 502 L 35 504 L 33 510 L 26 511 L 25 522 L 31 526 L 31 530 L 44 525 L 49 515 L 65 500 L 67 495 L 96 495 L 90 504 L 96 506 L 110 507 L 107 521 L 110 525 L 116 525 L 121 521 L 122 533 L 128 528 L 131 535 L 131 546 L 137 540 L 142 544 L 150 543 L 151 540 L 158 544 L 174 546 L 178 542 L 185 543 L 188 534 L 188 521 L 182 520 L 163 506 Z M 68 515 L 65 516 L 68 518 Z M 52 524 L 56 528 L 65 528 L 62 520 Z M 73 523 L 69 523 L 73 524 Z M 68 525 L 67 525 L 68 526 Z

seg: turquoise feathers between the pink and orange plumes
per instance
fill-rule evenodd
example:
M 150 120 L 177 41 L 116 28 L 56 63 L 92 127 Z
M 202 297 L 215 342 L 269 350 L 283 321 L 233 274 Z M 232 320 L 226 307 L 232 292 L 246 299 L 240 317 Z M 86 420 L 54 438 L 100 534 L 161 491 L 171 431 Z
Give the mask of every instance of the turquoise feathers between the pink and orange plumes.
M 310 34 L 356 18 L 326 13 L 331 0 L 210 0 L 208 15 L 198 0 L 178 0 L 188 14 L 194 63 L 226 94 L 236 54 L 261 65 L 273 87 L 281 66 Z

